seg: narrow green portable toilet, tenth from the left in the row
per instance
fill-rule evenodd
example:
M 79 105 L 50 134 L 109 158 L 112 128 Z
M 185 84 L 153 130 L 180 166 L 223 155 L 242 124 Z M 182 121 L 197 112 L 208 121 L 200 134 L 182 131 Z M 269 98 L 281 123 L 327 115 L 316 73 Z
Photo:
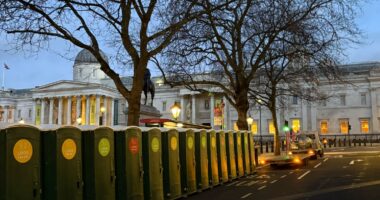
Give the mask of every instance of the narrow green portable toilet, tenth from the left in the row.
M 226 154 L 226 136 L 224 131 L 216 132 L 216 148 L 218 153 L 218 172 L 221 183 L 228 181 L 227 154 Z

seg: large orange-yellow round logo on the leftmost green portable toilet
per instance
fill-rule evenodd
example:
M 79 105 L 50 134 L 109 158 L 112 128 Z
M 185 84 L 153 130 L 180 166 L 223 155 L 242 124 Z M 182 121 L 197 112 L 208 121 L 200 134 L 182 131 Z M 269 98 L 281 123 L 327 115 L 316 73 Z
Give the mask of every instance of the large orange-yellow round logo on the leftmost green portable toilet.
M 13 147 L 13 157 L 19 163 L 27 163 L 33 155 L 33 146 L 27 139 L 20 139 Z

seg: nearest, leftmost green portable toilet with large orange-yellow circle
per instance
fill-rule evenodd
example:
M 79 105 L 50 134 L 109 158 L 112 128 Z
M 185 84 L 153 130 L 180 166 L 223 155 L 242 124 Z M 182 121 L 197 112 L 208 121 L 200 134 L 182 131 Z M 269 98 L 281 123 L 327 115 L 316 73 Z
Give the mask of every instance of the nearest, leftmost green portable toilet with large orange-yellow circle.
M 0 199 L 41 199 L 40 131 L 29 125 L 0 130 Z

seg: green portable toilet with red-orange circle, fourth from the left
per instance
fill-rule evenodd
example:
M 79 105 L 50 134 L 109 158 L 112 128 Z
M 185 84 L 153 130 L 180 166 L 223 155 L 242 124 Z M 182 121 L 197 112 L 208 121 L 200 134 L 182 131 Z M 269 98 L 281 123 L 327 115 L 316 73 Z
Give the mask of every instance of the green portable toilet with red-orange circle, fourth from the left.
M 141 129 L 113 127 L 115 134 L 116 199 L 144 199 Z

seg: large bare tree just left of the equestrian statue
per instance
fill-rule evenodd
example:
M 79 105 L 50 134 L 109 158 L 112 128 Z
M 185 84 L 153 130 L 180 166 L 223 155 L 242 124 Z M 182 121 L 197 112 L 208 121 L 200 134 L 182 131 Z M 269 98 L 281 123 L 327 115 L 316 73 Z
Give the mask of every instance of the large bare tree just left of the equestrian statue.
M 139 124 L 143 77 L 149 60 L 165 49 L 177 31 L 200 13 L 196 0 L 0 0 L 0 29 L 14 34 L 15 48 L 37 50 L 59 38 L 91 52 L 128 102 L 128 125 Z M 132 86 L 101 49 L 111 48 L 119 64 L 130 66 Z

